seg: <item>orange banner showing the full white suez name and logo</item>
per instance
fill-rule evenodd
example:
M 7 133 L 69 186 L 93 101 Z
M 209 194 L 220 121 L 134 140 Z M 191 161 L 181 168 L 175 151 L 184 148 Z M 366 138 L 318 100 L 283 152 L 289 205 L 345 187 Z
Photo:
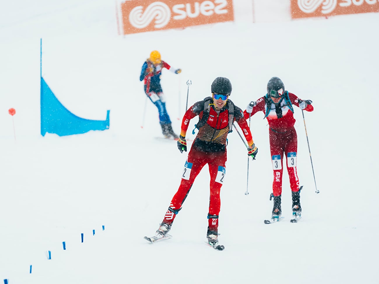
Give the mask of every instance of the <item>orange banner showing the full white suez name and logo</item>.
M 124 34 L 233 21 L 232 0 L 134 0 L 121 4 Z

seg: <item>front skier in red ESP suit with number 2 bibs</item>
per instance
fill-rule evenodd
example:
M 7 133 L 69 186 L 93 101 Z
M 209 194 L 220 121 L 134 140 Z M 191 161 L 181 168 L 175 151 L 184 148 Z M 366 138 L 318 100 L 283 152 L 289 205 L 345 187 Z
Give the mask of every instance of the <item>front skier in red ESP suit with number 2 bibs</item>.
M 197 136 L 188 153 L 182 174 L 182 182 L 178 191 L 171 200 L 170 206 L 164 216 L 157 236 L 165 236 L 171 228 L 175 216 L 182 209 L 196 176 L 201 169 L 208 164 L 210 173 L 210 199 L 208 211 L 208 244 L 213 247 L 218 244 L 218 215 L 220 212 L 220 189 L 225 177 L 226 138 L 232 130 L 233 121 L 236 121 L 243 130 L 249 148 L 248 155 L 253 159 L 258 149 L 255 147 L 250 129 L 244 119 L 242 110 L 229 100 L 232 92 L 232 84 L 224 77 L 216 78 L 211 84 L 212 97 L 196 102 L 185 113 L 182 120 L 182 129 L 177 141 L 179 151 L 187 151 L 186 132 L 189 121 L 199 116 L 196 127 L 199 129 Z

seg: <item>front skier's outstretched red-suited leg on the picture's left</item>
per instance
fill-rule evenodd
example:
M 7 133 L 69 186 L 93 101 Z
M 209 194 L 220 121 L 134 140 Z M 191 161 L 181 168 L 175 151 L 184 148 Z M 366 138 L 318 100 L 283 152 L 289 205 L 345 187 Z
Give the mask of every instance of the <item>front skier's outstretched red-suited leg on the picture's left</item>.
M 164 216 L 163 223 L 168 223 L 169 225 L 174 222 L 176 215 L 182 209 L 183 202 L 188 196 L 189 190 L 191 189 L 193 182 L 201 169 L 207 163 L 202 157 L 202 153 L 197 151 L 196 148 L 191 148 L 188 153 L 188 158 L 185 163 L 185 168 L 183 169 L 182 181 L 178 191 L 172 197 L 170 206 Z

